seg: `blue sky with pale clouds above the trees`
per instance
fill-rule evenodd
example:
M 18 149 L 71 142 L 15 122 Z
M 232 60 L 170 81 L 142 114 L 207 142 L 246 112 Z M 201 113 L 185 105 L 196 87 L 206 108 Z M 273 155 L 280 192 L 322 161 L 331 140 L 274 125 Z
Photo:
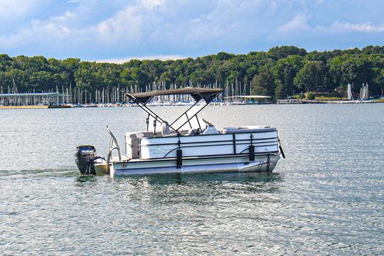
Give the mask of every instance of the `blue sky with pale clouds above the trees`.
M 0 53 L 122 63 L 384 45 L 383 0 L 0 0 Z

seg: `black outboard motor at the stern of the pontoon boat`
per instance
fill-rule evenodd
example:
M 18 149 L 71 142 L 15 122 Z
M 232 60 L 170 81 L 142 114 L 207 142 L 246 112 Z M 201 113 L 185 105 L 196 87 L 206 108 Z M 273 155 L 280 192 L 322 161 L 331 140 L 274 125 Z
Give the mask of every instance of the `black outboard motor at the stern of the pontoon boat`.
M 95 158 L 95 146 L 76 146 L 75 163 L 78 166 L 80 174 L 96 175 L 95 166 L 93 166 Z

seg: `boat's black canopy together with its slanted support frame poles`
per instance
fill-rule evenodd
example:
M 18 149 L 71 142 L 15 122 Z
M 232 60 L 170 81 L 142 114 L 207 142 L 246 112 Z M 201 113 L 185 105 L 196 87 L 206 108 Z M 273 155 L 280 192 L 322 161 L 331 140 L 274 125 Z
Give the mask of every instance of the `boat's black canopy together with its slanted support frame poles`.
M 165 122 L 164 119 L 161 119 L 158 114 L 154 113 L 152 110 L 149 110 L 148 107 L 146 107 L 146 103 L 151 100 L 152 97 L 154 96 L 159 96 L 159 95 L 191 95 L 193 97 L 193 100 L 196 102 L 188 108 L 181 116 L 179 116 L 174 122 L 171 124 L 167 124 L 171 129 L 173 129 L 177 134 L 180 134 L 178 132 L 181 127 L 183 127 L 184 124 L 187 122 L 190 122 L 190 120 L 193 117 L 196 117 L 201 110 L 203 110 L 215 97 L 217 97 L 220 92 L 222 92 L 223 89 L 221 88 L 214 88 L 214 89 L 206 89 L 206 88 L 193 88 L 193 87 L 185 87 L 185 88 L 179 88 L 179 89 L 174 89 L 174 90 L 161 90 L 161 91 L 152 91 L 152 92 L 140 92 L 140 93 L 127 93 L 127 96 L 129 97 L 130 100 L 132 100 L 134 103 L 136 103 L 139 107 L 142 108 L 145 112 L 149 114 L 149 116 L 153 117 L 155 121 L 159 119 L 161 122 Z M 192 107 L 194 107 L 200 100 L 204 100 L 206 102 L 206 105 L 204 105 L 198 112 L 193 114 L 192 117 L 188 117 L 187 112 L 191 110 Z M 175 122 L 180 119 L 183 115 L 186 115 L 187 121 L 183 123 L 180 127 L 175 129 L 172 127 Z

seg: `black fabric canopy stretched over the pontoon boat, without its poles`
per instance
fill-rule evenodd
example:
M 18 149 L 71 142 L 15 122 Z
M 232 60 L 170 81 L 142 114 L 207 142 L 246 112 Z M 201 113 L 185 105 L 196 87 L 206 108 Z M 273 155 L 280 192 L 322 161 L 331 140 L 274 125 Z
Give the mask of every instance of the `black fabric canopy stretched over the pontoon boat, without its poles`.
M 199 102 L 200 100 L 204 100 L 207 104 L 210 103 L 215 97 L 217 97 L 223 89 L 213 88 L 193 88 L 193 87 L 184 87 L 174 90 L 159 90 L 159 91 L 151 91 L 151 92 L 139 92 L 139 93 L 127 93 L 129 99 L 134 102 L 140 102 L 143 105 L 146 105 L 149 100 L 151 100 L 154 96 L 159 95 L 191 95 L 193 100 Z

